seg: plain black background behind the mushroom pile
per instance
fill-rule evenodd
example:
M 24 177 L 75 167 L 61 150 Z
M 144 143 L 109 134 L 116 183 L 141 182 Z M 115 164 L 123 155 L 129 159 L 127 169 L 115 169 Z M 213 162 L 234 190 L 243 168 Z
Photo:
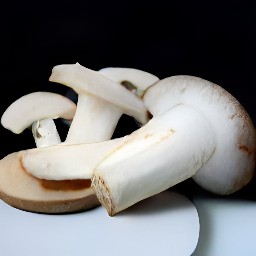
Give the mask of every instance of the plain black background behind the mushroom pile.
M 9 1 L 1 9 L 0 114 L 30 92 L 65 94 L 48 82 L 51 69 L 79 62 L 93 70 L 138 68 L 160 79 L 202 77 L 233 94 L 256 123 L 253 1 Z M 1 157 L 34 147 L 29 131 L 1 127 L 0 139 Z

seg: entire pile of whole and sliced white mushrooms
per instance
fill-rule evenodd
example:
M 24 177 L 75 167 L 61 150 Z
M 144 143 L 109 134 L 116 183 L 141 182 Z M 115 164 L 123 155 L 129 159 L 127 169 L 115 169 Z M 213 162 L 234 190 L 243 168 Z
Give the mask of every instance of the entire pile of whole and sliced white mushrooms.
M 216 84 L 193 76 L 159 80 L 132 68 L 93 71 L 78 63 L 55 66 L 49 80 L 72 88 L 77 104 L 35 92 L 12 103 L 1 119 L 17 134 L 32 127 L 37 146 L 0 161 L 1 198 L 16 208 L 64 213 L 101 204 L 113 216 L 188 178 L 229 195 L 253 177 L 252 120 Z M 111 139 L 123 114 L 139 128 Z M 63 142 L 56 118 L 70 121 Z

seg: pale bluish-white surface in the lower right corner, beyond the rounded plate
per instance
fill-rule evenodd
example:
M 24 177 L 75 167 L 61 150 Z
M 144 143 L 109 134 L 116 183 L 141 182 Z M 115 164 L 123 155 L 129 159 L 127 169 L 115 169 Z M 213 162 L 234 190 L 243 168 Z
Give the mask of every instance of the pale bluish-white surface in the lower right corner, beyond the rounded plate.
M 200 237 L 193 256 L 255 256 L 256 202 L 195 197 Z

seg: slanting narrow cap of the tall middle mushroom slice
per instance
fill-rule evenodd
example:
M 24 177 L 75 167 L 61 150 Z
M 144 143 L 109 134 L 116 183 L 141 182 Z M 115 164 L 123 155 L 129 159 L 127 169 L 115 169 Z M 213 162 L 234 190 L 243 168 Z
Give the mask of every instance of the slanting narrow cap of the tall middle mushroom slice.
M 49 78 L 72 88 L 77 94 L 90 94 L 122 109 L 141 123 L 148 121 L 143 101 L 120 84 L 80 64 L 62 64 L 52 69 Z

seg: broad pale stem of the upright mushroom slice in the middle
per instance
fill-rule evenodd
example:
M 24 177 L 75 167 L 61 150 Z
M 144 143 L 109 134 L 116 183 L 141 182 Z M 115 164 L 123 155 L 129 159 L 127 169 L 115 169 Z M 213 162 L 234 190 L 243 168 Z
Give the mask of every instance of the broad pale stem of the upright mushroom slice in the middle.
M 90 94 L 80 94 L 77 110 L 64 143 L 92 143 L 108 140 L 121 115 L 122 111 L 113 104 Z

